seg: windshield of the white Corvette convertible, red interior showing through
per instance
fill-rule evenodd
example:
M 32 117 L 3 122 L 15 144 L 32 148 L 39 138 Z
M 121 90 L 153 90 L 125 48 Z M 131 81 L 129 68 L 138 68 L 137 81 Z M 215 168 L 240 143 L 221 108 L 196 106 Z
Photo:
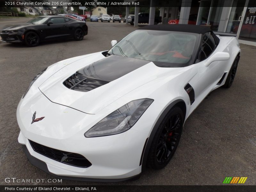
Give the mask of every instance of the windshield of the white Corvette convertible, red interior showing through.
M 182 67 L 184 65 L 179 64 L 190 62 L 198 38 L 199 34 L 195 33 L 135 30 L 114 45 L 108 53 L 149 61 L 176 63 L 175 67 Z

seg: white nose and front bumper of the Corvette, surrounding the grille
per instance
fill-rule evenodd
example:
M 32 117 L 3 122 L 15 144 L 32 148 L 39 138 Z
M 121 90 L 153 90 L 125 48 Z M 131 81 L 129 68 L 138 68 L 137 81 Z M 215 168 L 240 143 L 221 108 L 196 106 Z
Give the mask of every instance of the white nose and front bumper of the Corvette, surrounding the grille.
M 80 177 L 89 180 L 126 180 L 141 173 L 140 162 L 149 132 L 130 129 L 116 135 L 86 138 L 84 133 L 102 119 L 102 115 L 85 114 L 52 103 L 40 92 L 34 96 L 28 92 L 18 105 L 17 121 L 21 130 L 18 141 L 26 145 L 31 156 L 46 164 L 46 172 L 76 177 L 78 180 Z M 35 111 L 36 118 L 45 118 L 31 124 Z M 49 148 L 80 154 L 92 165 L 81 168 L 53 160 L 34 151 L 29 140 Z

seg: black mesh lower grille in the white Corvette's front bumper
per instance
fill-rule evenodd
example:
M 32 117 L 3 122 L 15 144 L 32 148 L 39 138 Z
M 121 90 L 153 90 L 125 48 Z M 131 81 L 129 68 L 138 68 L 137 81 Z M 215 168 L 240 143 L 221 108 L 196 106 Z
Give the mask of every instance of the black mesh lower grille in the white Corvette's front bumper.
M 80 154 L 53 149 L 31 140 L 29 140 L 29 143 L 34 151 L 55 161 L 83 168 L 90 167 L 92 165 L 90 161 Z

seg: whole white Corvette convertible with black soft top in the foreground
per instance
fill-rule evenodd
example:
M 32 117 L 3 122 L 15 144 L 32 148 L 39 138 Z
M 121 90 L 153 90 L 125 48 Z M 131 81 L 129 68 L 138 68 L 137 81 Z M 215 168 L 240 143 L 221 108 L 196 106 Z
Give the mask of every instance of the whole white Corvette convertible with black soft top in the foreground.
M 109 51 L 55 63 L 17 108 L 29 161 L 64 179 L 123 181 L 161 169 L 183 124 L 214 89 L 230 87 L 236 37 L 196 25 L 136 29 Z

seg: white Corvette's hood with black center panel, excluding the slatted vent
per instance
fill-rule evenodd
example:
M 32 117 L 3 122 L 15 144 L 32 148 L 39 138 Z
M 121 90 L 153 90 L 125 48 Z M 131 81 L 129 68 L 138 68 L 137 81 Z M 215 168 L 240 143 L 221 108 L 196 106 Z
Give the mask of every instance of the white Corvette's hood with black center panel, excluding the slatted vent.
M 97 114 L 143 84 L 161 78 L 166 73 L 181 73 L 180 68 L 160 68 L 147 60 L 115 55 L 103 56 L 99 60 L 100 55 L 86 57 L 62 68 L 39 86 L 40 91 L 54 103 Z M 105 84 L 88 92 L 69 89 L 64 82 L 76 73 Z

